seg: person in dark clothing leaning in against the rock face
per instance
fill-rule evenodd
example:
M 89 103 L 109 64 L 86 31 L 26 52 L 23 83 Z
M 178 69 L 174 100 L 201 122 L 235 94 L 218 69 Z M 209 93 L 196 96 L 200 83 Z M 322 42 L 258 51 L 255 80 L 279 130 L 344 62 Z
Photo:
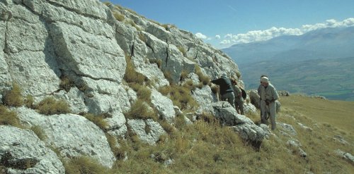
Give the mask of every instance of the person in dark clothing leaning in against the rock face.
M 222 76 L 216 80 L 212 80 L 212 83 L 219 85 L 220 95 L 222 101 L 228 101 L 232 107 L 234 106 L 234 88 L 232 87 L 231 80 L 227 77 L 226 73 L 222 73 Z

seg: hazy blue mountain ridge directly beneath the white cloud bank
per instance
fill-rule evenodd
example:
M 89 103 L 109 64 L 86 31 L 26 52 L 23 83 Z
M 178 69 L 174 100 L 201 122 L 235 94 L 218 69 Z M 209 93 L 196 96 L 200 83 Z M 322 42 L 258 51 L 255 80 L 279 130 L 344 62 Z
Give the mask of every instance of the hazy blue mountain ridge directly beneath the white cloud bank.
M 273 59 L 293 62 L 353 56 L 353 45 L 354 27 L 333 27 L 299 36 L 281 36 L 264 42 L 235 44 L 222 51 L 239 64 Z

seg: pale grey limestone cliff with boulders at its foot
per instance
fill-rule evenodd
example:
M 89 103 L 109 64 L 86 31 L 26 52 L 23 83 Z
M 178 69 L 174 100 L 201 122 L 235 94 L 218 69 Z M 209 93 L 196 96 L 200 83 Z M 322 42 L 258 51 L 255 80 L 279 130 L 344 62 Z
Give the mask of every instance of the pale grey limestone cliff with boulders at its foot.
M 48 96 L 64 99 L 72 114 L 46 118 L 30 108 L 12 110 L 18 113 L 23 125 L 40 126 L 47 135 L 45 143 L 59 147 L 61 156 L 84 154 L 98 159 L 104 166 L 111 166 L 115 161 L 105 133 L 118 138 L 131 129 L 149 144 L 165 133 L 156 120 L 127 119 L 123 115 L 137 100 L 136 92 L 123 79 L 127 61 L 152 82 L 149 86 L 152 109 L 169 123 L 181 111 L 158 91 L 159 87 L 170 83 L 181 85 L 182 74 L 187 74 L 185 79 L 200 82 L 196 67 L 211 79 L 222 72 L 234 77 L 239 73 L 229 56 L 192 33 L 172 25 L 160 25 L 98 0 L 0 0 L 0 31 L 0 97 L 16 82 L 23 89 L 23 96 L 33 96 L 35 103 Z M 69 89 L 60 85 L 64 78 L 72 84 Z M 191 95 L 200 109 L 212 108 L 216 101 L 207 85 L 195 89 Z M 217 106 L 220 107 L 226 106 Z M 75 115 L 78 113 L 108 113 L 105 132 Z M 229 113 L 237 115 L 234 111 Z M 249 120 L 242 123 L 251 124 Z M 84 129 L 75 130 L 76 125 Z M 152 131 L 145 132 L 147 126 Z M 11 129 L 11 126 L 1 127 L 2 132 Z M 18 129 L 16 132 L 28 134 Z M 7 147 L 13 143 L 11 139 L 0 142 Z M 100 150 L 91 149 L 97 146 Z M 0 156 L 17 153 L 11 148 L 1 148 Z M 62 173 L 62 164 L 57 161 L 43 170 Z

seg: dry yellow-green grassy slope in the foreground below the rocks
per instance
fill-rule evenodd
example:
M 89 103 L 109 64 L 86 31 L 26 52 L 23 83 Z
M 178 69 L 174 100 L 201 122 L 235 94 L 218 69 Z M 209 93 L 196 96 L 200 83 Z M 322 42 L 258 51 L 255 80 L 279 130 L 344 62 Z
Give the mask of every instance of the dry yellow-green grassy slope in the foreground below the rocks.
M 340 149 L 354 154 L 354 102 L 300 95 L 282 97 L 280 101 L 278 129 L 259 149 L 212 118 L 193 125 L 185 125 L 177 118 L 177 129 L 161 137 L 156 146 L 132 136 L 121 142 L 127 159 L 117 161 L 111 170 L 95 168 L 98 173 L 354 173 L 353 163 L 335 152 Z M 259 116 L 249 117 L 259 122 Z M 292 125 L 297 134 L 287 132 L 280 126 L 282 123 Z M 301 144 L 306 157 L 287 144 L 290 139 Z

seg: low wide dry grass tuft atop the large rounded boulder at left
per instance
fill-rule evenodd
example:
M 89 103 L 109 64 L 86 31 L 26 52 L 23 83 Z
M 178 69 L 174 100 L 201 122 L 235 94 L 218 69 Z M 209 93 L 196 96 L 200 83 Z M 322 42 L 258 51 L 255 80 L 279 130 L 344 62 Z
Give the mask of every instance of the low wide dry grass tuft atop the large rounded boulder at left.
M 55 100 L 53 97 L 46 97 L 36 107 L 39 113 L 45 115 L 69 113 L 70 106 L 66 101 L 60 99 L 59 101 Z

